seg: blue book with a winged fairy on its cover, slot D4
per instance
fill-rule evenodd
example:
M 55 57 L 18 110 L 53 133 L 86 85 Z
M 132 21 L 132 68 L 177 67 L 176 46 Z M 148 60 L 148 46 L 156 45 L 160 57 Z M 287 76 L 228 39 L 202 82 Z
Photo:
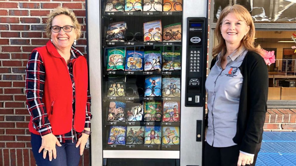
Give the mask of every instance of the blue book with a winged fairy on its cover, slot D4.
M 145 96 L 161 96 L 161 76 L 146 76 Z

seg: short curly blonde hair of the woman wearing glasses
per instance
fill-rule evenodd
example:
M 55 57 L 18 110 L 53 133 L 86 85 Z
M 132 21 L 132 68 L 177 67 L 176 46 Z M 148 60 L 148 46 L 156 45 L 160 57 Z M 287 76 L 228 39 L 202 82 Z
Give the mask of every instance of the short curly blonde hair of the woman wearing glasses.
M 53 23 L 53 18 L 55 18 L 55 16 L 62 15 L 62 14 L 67 15 L 71 18 L 73 22 L 73 28 L 76 33 L 76 40 L 78 40 L 82 35 L 81 24 L 78 23 L 75 13 L 72 10 L 69 10 L 67 7 L 57 7 L 55 8 L 55 10 L 53 10 L 47 15 L 46 27 L 44 28 L 46 32 L 46 36 L 48 38 L 51 38 L 51 26 Z

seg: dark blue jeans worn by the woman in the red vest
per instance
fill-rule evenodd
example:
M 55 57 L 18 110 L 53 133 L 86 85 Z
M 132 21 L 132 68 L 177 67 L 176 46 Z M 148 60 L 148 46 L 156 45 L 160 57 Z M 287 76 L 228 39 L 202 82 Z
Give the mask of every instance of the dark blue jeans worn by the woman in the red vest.
M 43 159 L 43 152 L 38 153 L 42 142 L 40 135 L 31 133 L 31 145 L 36 164 L 38 166 L 78 166 L 80 160 L 80 145 L 76 148 L 74 143 L 61 143 L 61 147 L 55 145 L 56 159 L 49 161 L 48 153 Z

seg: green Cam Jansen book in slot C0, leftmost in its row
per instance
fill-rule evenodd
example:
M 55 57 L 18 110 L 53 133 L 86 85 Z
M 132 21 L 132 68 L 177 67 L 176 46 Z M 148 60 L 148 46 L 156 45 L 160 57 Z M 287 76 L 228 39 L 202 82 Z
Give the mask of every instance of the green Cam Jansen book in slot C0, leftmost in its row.
M 124 70 L 124 48 L 107 49 L 107 71 Z

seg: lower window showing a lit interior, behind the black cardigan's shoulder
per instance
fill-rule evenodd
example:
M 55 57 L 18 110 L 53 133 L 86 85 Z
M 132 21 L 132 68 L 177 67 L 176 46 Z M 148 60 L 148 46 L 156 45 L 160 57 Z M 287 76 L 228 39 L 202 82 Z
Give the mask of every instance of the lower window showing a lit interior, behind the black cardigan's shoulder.
M 275 63 L 267 65 L 268 100 L 296 100 L 296 43 L 292 34 L 293 31 L 256 31 L 255 44 L 260 44 L 266 51 L 275 51 Z

